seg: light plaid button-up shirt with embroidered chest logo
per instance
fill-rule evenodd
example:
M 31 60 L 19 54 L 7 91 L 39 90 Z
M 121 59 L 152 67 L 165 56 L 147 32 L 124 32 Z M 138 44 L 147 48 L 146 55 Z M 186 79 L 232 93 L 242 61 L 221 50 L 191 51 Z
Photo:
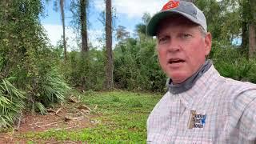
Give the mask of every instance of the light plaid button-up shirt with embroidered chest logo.
M 211 66 L 190 90 L 162 97 L 147 120 L 147 143 L 256 143 L 256 85 Z

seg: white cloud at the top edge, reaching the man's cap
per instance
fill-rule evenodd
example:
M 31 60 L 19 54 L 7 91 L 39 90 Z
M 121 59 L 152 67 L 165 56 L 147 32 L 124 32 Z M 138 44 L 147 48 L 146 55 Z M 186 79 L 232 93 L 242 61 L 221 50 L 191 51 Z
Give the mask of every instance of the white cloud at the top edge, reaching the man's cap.
M 126 14 L 129 18 L 142 18 L 145 12 L 157 13 L 166 2 L 168 0 L 113 0 L 112 6 L 117 13 Z M 98 10 L 105 9 L 104 0 L 95 0 L 94 4 Z

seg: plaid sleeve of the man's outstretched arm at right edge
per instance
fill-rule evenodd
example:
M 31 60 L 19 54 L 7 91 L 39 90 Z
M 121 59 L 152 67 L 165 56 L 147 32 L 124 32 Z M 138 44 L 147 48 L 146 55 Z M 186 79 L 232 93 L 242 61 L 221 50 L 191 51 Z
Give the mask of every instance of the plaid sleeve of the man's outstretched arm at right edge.
M 250 140 L 256 138 L 256 85 L 251 82 L 241 82 L 225 78 L 229 94 L 230 126 L 237 126 L 242 137 Z

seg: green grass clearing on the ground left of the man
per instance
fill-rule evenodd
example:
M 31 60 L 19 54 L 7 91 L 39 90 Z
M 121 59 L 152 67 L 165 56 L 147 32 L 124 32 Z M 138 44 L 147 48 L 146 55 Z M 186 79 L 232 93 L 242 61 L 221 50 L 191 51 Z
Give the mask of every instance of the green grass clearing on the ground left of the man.
M 81 95 L 86 106 L 98 106 L 98 124 L 83 130 L 48 131 L 26 134 L 29 139 L 54 139 L 89 143 L 146 143 L 146 119 L 161 98 L 158 94 L 125 91 L 87 92 Z

